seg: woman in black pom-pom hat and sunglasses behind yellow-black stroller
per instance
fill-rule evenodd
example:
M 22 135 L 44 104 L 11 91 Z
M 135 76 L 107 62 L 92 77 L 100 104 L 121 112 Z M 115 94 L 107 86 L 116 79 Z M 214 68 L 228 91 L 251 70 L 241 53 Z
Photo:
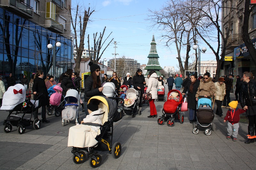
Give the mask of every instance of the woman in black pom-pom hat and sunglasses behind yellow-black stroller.
M 84 110 L 85 114 L 89 115 L 87 110 L 87 104 L 92 96 L 105 96 L 102 93 L 103 87 L 101 87 L 100 81 L 100 66 L 89 62 L 91 75 L 84 81 Z

